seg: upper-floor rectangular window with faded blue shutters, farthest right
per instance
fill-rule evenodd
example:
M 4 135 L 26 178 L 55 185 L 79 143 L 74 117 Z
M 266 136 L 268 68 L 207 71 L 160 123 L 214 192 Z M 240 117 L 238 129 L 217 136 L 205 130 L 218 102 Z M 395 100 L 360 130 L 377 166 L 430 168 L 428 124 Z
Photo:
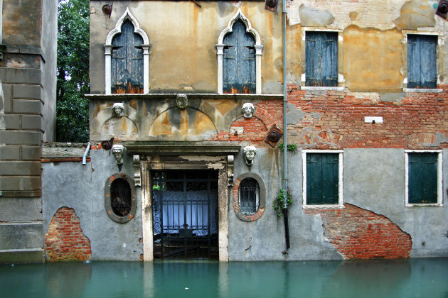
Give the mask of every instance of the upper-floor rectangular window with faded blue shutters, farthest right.
M 407 88 L 437 88 L 437 35 L 407 35 Z

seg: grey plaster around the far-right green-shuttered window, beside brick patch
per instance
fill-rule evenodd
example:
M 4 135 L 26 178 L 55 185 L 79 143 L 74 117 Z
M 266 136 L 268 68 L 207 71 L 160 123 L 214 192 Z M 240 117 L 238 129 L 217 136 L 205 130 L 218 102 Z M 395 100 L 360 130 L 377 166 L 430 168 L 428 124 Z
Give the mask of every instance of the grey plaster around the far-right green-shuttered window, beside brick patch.
M 444 160 L 447 158 L 444 150 Z M 344 202 L 381 214 L 408 233 L 411 257 L 448 255 L 444 207 L 405 208 L 405 153 L 402 149 L 344 150 Z M 444 162 L 444 202 L 447 162 Z

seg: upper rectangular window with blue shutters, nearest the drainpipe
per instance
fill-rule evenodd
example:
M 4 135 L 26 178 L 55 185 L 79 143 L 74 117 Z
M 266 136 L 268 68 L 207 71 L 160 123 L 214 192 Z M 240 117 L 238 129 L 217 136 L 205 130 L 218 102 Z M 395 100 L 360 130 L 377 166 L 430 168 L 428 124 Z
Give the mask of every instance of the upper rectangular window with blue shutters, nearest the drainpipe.
M 305 84 L 311 87 L 338 86 L 338 33 L 305 33 Z

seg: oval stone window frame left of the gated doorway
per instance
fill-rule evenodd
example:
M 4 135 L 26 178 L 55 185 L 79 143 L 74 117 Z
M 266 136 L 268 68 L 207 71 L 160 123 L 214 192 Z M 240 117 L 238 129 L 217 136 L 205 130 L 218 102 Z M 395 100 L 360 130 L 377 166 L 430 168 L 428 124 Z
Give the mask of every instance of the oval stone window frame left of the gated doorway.
M 129 184 L 129 188 L 131 189 L 131 211 L 129 211 L 129 214 L 125 216 L 118 216 L 117 214 L 114 214 L 114 211 L 112 210 L 112 197 L 110 195 L 110 187 L 112 186 L 112 182 L 117 179 L 125 180 Z M 107 179 L 105 184 L 105 209 L 107 216 L 109 216 L 112 221 L 115 221 L 117 223 L 127 223 L 134 218 L 135 213 L 137 212 L 137 193 L 135 192 L 134 180 L 132 180 L 129 175 L 119 172 L 111 175 Z

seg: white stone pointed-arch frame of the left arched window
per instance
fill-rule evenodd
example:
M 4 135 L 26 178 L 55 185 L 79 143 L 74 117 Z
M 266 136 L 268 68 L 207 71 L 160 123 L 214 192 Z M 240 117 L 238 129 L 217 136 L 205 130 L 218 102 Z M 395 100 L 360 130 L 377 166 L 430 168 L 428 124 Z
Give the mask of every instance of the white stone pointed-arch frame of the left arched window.
M 149 38 L 148 35 L 144 32 L 142 28 L 140 28 L 139 22 L 137 18 L 135 18 L 131 11 L 129 11 L 129 7 L 126 8 L 123 15 L 118 19 L 115 24 L 115 28 L 113 28 L 108 34 L 106 38 L 105 47 L 105 93 L 112 94 L 112 39 L 118 33 L 122 33 L 122 25 L 124 21 L 131 21 L 132 25 L 134 25 L 134 33 L 139 34 L 143 38 L 143 93 L 149 93 Z

